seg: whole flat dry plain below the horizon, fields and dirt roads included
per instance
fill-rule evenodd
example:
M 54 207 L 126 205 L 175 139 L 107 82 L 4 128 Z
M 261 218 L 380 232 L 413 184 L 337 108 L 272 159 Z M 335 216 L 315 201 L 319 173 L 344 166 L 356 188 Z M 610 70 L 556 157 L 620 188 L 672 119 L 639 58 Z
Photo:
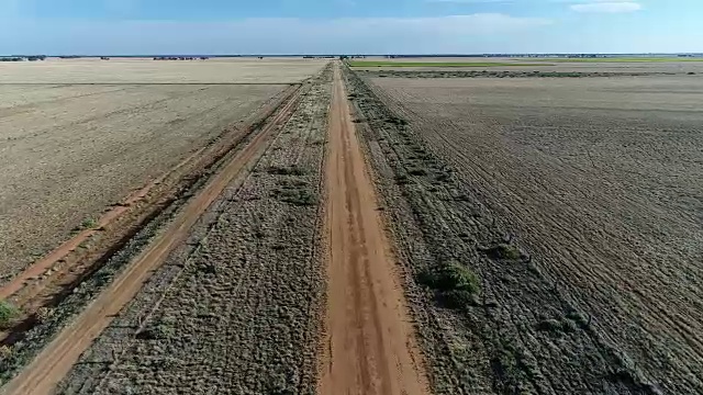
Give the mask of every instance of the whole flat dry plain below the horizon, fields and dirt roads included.
M 0 64 L 0 393 L 703 393 L 701 63 L 544 63 Z

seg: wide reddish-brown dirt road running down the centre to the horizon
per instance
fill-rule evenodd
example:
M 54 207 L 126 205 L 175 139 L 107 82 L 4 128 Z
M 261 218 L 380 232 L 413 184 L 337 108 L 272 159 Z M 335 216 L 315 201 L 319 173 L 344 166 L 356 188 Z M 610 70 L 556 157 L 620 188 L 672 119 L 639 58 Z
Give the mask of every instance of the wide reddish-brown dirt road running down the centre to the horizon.
M 335 66 L 326 168 L 328 309 L 321 394 L 426 394 L 373 183 Z

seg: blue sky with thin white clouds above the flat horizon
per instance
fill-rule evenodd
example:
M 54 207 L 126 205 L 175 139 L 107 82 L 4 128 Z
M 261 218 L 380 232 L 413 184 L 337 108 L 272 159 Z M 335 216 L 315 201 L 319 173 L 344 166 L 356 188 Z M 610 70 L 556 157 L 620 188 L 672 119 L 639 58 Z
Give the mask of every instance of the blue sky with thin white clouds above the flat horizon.
M 701 0 L 0 0 L 0 54 L 703 52 Z

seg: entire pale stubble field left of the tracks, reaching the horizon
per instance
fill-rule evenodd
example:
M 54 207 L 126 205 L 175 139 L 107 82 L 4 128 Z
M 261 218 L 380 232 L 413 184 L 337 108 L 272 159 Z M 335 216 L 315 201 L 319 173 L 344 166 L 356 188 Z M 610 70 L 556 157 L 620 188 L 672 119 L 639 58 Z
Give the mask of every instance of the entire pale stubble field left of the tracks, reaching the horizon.
M 323 65 L 1 64 L 0 281 Z

